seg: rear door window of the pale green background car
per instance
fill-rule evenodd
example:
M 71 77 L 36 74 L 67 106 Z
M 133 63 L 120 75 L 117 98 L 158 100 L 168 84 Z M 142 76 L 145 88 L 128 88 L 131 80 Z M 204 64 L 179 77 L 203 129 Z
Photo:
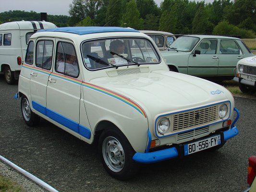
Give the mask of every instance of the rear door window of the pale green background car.
M 239 55 L 240 48 L 233 40 L 220 40 L 219 54 Z

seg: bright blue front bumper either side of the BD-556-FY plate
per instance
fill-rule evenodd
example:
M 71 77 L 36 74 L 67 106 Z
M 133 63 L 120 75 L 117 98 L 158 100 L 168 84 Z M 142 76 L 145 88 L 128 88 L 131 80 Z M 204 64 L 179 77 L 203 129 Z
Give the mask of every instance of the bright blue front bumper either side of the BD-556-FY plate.
M 236 126 L 223 132 L 224 141 L 236 136 L 238 134 L 238 129 Z M 171 158 L 178 157 L 179 153 L 176 147 L 171 147 L 169 149 L 164 149 L 160 151 L 150 152 L 150 153 L 135 153 L 133 156 L 134 161 L 139 163 L 155 163 L 158 161 L 163 161 Z

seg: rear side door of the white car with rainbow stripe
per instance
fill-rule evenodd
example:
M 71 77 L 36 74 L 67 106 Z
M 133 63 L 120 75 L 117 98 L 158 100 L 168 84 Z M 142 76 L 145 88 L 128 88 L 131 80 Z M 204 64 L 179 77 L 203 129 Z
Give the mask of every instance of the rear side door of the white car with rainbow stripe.
M 36 42 L 35 67 L 31 69 L 30 90 L 32 106 L 40 113 L 46 115 L 46 88 L 49 74 L 52 72 L 54 40 L 40 38 Z

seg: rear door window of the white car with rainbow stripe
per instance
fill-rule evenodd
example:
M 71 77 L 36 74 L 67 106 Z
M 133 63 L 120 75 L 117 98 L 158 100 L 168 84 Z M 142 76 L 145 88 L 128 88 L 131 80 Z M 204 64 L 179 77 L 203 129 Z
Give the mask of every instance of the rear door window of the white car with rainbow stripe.
M 37 42 L 36 66 L 50 70 L 52 62 L 53 42 L 50 40 L 40 40 Z

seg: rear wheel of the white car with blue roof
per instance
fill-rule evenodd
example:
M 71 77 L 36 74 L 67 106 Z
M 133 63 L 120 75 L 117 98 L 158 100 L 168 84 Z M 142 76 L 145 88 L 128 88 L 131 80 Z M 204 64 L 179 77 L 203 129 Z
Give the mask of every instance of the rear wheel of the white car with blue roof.
M 26 96 L 21 97 L 21 112 L 22 117 L 27 125 L 35 127 L 39 124 L 40 117 L 31 110 Z

